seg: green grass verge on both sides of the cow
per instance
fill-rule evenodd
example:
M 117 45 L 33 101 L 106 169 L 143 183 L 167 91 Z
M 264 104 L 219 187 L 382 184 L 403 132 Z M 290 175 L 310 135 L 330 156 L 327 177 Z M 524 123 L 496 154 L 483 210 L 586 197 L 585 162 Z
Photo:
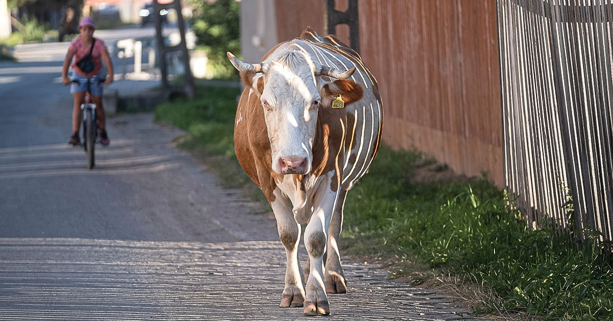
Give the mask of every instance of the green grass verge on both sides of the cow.
M 186 130 L 181 146 L 203 155 L 225 177 L 221 181 L 253 187 L 232 142 L 239 90 L 200 87 L 198 92 L 196 100 L 158 106 L 156 120 Z M 414 173 L 432 163 L 419 151 L 381 148 L 369 174 L 348 193 L 344 253 L 378 257 L 397 277 L 413 276 L 416 265 L 425 264 L 428 272 L 422 275 L 471 280 L 473 289 L 495 293 L 486 299 L 467 297 L 474 290 L 463 293 L 477 314 L 613 319 L 611 257 L 602 253 L 598 235 L 579 245 L 550 229 L 528 229 L 522 214 L 509 206 L 512 198 L 485 178 L 417 181 Z

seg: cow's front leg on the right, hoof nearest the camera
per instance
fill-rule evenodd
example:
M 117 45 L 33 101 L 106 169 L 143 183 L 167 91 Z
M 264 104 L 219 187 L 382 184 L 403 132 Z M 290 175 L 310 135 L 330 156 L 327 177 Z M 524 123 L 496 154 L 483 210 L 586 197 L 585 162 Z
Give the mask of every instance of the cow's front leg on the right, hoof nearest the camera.
M 307 299 L 304 302 L 305 315 L 330 314 L 330 304 L 324 286 L 324 253 L 326 253 L 326 232 L 335 207 L 335 193 L 322 193 L 314 204 L 311 221 L 305 228 L 310 273 L 307 280 Z

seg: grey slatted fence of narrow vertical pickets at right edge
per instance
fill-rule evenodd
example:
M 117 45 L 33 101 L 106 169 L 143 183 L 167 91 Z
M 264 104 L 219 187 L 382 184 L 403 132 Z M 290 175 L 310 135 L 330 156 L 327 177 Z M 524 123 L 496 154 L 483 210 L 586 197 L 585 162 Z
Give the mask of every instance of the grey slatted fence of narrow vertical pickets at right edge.
M 497 2 L 505 185 L 529 223 L 613 240 L 613 5 Z

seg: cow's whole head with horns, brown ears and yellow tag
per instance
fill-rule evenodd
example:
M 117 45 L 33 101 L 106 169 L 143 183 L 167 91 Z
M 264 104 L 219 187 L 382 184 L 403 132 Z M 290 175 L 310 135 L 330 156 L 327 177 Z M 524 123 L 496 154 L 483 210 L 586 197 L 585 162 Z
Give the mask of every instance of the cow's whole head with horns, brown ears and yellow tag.
M 363 89 L 348 80 L 356 70 L 338 70 L 313 62 L 303 50 L 275 50 L 260 64 L 227 53 L 246 86 L 260 98 L 272 150 L 272 169 L 279 174 L 308 174 L 318 111 L 330 108 L 339 94 L 345 104 L 360 100 Z M 324 81 L 321 76 L 337 78 Z

